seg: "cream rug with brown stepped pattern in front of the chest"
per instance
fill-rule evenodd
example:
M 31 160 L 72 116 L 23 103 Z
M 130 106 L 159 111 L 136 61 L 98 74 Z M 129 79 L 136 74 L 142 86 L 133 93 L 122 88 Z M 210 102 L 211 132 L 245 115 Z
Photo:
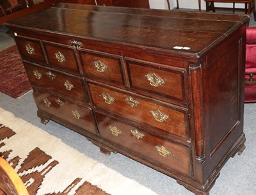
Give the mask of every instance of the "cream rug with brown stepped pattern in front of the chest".
M 0 155 L 30 195 L 156 195 L 2 108 Z

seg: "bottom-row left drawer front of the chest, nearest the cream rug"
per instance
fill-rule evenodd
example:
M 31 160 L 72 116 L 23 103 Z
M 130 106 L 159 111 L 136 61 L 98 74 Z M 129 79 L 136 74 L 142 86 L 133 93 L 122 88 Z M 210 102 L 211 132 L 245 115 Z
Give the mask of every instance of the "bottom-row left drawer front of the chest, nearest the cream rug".
M 96 134 L 92 110 L 88 107 L 69 102 L 63 97 L 50 95 L 45 91 L 33 88 L 38 109 L 58 116 L 78 127 Z

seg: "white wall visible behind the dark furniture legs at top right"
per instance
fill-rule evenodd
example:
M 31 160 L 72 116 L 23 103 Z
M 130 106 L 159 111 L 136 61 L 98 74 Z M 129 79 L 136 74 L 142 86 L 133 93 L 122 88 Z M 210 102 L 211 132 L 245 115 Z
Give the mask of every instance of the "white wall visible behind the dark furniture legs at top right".
M 169 0 L 171 9 L 177 6 L 176 0 Z M 201 8 L 205 10 L 205 1 L 201 1 Z M 167 0 L 149 0 L 150 8 L 152 9 L 163 9 L 168 10 Z M 232 3 L 215 3 L 215 6 L 225 6 L 227 8 L 232 8 Z M 180 8 L 187 8 L 187 9 L 196 9 L 198 10 L 198 0 L 179 0 L 179 7 Z M 236 3 L 236 8 L 244 8 L 244 3 Z

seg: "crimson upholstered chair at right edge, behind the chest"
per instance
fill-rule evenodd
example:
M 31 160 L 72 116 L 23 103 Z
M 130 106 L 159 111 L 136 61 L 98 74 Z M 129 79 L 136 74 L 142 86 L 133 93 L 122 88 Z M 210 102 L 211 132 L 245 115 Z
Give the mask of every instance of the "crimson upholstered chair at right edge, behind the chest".
M 256 27 L 246 33 L 244 102 L 256 102 Z

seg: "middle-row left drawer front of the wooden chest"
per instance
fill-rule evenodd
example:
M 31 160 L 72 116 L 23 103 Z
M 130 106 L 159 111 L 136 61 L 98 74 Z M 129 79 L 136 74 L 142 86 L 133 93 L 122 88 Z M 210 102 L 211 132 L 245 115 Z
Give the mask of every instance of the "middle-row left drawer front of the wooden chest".
M 82 78 L 72 77 L 29 63 L 24 63 L 24 65 L 31 84 L 88 102 Z

